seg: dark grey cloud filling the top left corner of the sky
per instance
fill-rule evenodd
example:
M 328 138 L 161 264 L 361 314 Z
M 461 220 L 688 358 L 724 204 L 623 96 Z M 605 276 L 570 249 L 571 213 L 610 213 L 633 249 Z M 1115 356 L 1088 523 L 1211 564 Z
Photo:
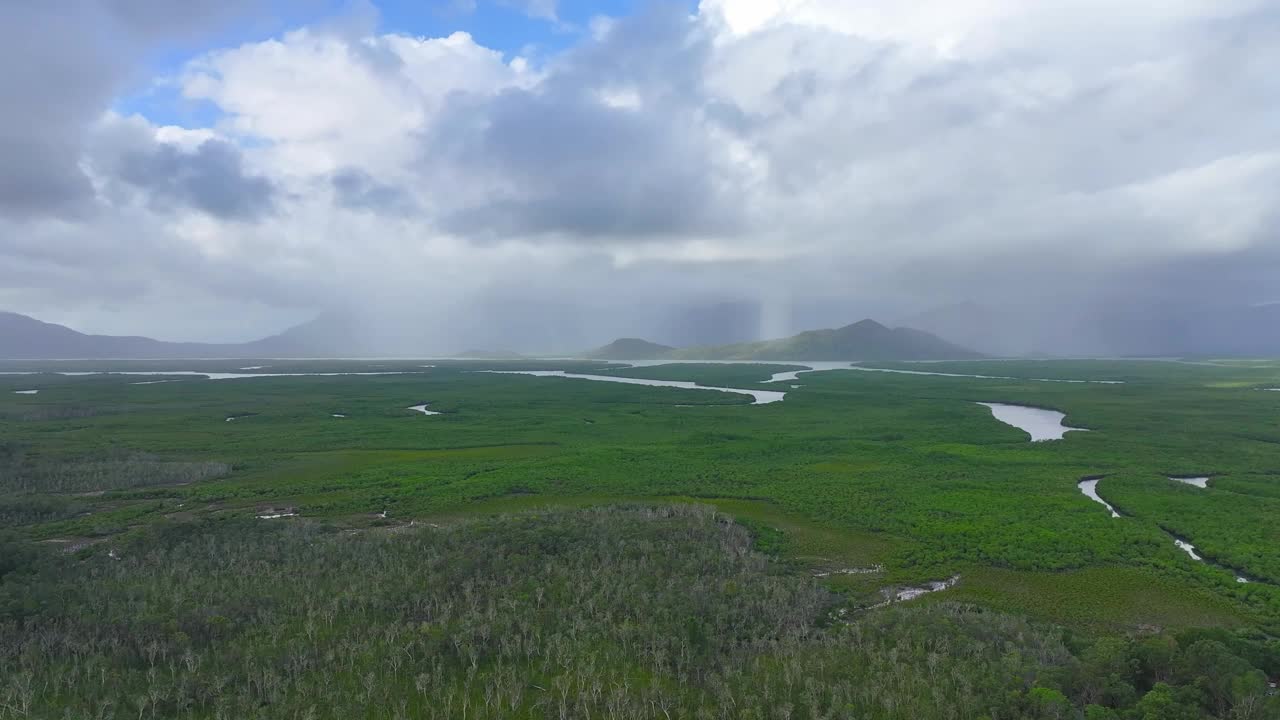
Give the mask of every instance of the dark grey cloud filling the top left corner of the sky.
M 82 215 L 91 124 L 156 44 L 224 22 L 247 0 L 0 3 L 0 217 Z

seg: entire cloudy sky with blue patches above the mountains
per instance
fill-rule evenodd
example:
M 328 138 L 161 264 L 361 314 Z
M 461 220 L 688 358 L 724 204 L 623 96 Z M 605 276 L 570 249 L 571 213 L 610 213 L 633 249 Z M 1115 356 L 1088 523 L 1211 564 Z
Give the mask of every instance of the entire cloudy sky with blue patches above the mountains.
M 0 309 L 447 351 L 1276 302 L 1277 67 L 1267 0 L 10 0 Z

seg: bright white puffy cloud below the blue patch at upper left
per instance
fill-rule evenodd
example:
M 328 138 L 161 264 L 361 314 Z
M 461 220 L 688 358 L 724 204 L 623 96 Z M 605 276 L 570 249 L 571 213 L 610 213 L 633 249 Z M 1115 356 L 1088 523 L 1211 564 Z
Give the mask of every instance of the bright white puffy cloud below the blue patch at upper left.
M 227 132 L 269 142 L 265 163 L 315 174 L 397 164 L 451 94 L 520 83 L 520 67 L 462 32 L 352 40 L 300 29 L 191 63 L 183 94 L 216 104 Z

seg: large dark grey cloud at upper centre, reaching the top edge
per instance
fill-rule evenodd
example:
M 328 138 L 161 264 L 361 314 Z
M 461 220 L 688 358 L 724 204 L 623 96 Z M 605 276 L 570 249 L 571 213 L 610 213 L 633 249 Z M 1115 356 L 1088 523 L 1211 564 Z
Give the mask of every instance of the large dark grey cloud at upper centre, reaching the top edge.
M 596 242 L 736 229 L 732 178 L 698 90 L 707 53 L 687 12 L 660 5 L 571 53 L 536 88 L 458 96 L 429 135 L 426 163 L 498 190 L 444 227 Z

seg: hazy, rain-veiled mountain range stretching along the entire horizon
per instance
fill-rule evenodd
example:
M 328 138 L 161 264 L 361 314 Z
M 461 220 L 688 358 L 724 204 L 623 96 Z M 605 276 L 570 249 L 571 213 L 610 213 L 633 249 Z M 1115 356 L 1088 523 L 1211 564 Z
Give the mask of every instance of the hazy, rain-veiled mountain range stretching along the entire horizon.
M 727 310 L 726 316 L 732 315 Z M 685 333 L 701 338 L 684 347 L 621 338 L 589 352 L 599 360 L 941 360 L 980 354 L 1016 356 L 1280 356 L 1280 304 L 1230 306 L 1169 302 L 1102 302 L 1088 307 L 947 305 L 901 319 L 890 328 L 863 320 L 781 340 L 723 345 L 732 333 Z M 497 325 L 495 325 L 497 327 Z M 692 329 L 692 325 L 690 325 Z M 232 357 L 415 357 L 428 355 L 430 328 L 412 315 L 367 319 L 324 314 L 279 334 L 243 343 L 164 342 L 148 337 L 96 336 L 0 313 L 0 359 L 232 359 Z M 497 347 L 520 350 L 520 340 L 492 332 Z M 520 336 L 536 345 L 538 333 Z M 664 338 L 667 340 L 667 338 Z M 667 340 L 668 343 L 677 341 Z M 545 347 L 545 341 L 543 341 Z M 483 347 L 483 346 L 480 346 Z M 493 347 L 493 346 L 490 346 Z M 433 355 L 449 355 L 435 352 Z M 545 354 L 544 354 L 545 355 Z M 552 355 L 566 355 L 553 352 Z M 511 351 L 453 356 L 517 357 Z

